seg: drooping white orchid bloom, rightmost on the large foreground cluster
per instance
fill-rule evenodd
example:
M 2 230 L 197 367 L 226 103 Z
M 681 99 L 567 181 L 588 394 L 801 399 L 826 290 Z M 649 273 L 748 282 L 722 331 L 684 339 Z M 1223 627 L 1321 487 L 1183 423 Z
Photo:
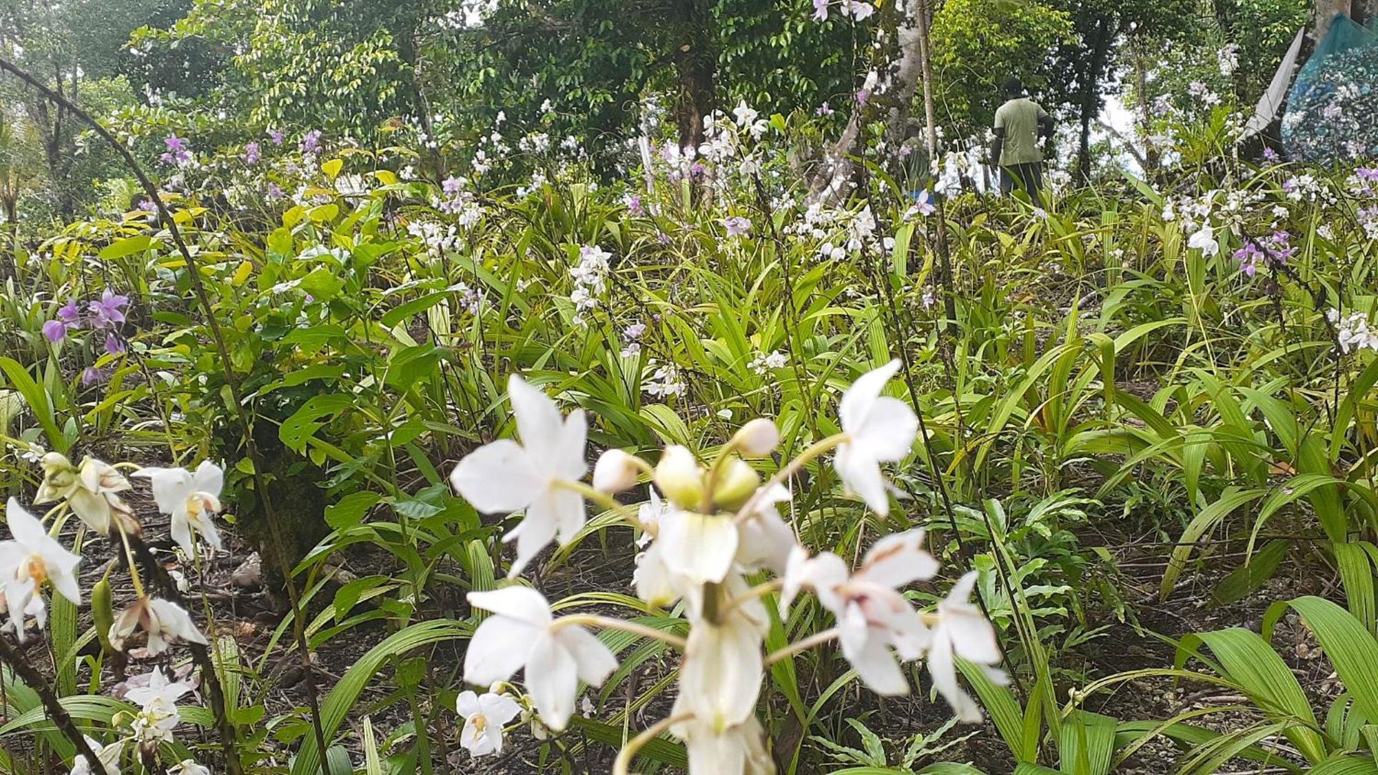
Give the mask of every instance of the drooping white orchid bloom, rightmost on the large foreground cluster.
M 959 720 L 974 724 L 981 720 L 981 709 L 956 684 L 954 655 L 978 665 L 996 684 L 1006 683 L 1000 663 L 1000 647 L 995 640 L 995 627 L 971 605 L 971 590 L 976 587 L 976 571 L 970 571 L 938 603 L 938 623 L 930 633 L 929 673 L 933 687 L 952 706 Z

